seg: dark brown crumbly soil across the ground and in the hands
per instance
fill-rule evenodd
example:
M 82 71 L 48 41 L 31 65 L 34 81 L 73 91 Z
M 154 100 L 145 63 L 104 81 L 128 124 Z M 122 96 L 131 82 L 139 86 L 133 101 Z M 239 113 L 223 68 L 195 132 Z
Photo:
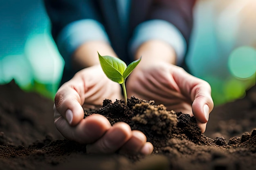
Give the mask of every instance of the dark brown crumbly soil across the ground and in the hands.
M 135 97 L 104 100 L 111 124 L 125 121 L 144 132 L 153 154 L 91 155 L 63 139 L 53 124 L 53 102 L 11 82 L 0 86 L 0 170 L 255 170 L 256 86 L 243 99 L 214 108 L 202 135 L 195 118 Z M 254 129 L 255 128 L 255 129 Z

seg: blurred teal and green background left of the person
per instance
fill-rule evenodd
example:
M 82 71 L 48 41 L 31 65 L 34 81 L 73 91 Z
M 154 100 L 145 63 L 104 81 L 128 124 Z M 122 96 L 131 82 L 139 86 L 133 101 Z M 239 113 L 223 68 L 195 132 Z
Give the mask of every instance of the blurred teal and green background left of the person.
M 50 34 L 42 0 L 0 1 L 0 84 L 53 98 L 64 61 Z

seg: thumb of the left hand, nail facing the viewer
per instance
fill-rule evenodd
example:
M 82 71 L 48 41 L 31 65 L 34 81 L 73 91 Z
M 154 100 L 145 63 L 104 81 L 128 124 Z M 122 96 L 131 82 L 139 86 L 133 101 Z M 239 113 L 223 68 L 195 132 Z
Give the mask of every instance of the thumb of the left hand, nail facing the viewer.
M 84 111 L 81 106 L 84 97 L 81 91 L 82 85 L 76 84 L 76 88 L 71 83 L 66 83 L 58 90 L 55 95 L 54 103 L 56 110 L 74 126 L 83 119 Z

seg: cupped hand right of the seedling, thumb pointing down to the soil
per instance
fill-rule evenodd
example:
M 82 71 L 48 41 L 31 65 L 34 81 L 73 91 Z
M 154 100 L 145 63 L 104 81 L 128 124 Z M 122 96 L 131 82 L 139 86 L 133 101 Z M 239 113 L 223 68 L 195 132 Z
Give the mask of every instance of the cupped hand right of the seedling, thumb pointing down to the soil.
M 202 133 L 213 109 L 211 86 L 183 68 L 159 62 L 138 65 L 126 82 L 128 97 L 154 100 L 168 110 L 195 116 Z

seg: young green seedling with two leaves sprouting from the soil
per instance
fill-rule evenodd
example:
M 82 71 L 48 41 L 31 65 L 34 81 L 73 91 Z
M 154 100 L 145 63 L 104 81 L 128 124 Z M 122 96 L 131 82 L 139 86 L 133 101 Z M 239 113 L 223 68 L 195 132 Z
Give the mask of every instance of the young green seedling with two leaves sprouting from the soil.
M 125 80 L 132 73 L 134 68 L 139 64 L 141 57 L 138 60 L 133 61 L 128 66 L 125 62 L 116 57 L 111 57 L 109 55 L 101 56 L 99 53 L 99 61 L 102 67 L 102 70 L 106 76 L 114 82 L 122 84 L 124 91 L 124 101 L 127 105 L 127 93 L 125 87 Z

